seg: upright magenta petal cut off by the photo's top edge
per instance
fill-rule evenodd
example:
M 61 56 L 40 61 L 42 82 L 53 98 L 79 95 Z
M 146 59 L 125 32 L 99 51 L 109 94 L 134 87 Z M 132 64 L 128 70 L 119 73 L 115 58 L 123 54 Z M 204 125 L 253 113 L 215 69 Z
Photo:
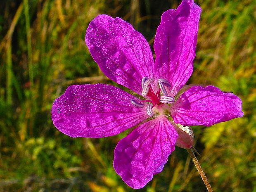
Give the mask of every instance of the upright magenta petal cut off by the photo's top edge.
M 192 74 L 200 13 L 193 1 L 183 0 L 177 9 L 163 13 L 157 28 L 155 71 L 157 77 L 171 83 L 167 88 L 170 96 L 175 96 Z

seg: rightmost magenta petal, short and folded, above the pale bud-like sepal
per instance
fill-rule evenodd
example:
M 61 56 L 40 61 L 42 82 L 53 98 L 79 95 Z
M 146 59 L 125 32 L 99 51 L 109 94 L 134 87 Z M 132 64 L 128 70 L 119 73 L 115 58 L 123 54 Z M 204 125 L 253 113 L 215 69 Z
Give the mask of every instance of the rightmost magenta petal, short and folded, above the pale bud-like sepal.
M 214 86 L 194 86 L 185 91 L 173 104 L 171 116 L 184 126 L 211 126 L 215 123 L 242 117 L 242 101 L 230 92 Z

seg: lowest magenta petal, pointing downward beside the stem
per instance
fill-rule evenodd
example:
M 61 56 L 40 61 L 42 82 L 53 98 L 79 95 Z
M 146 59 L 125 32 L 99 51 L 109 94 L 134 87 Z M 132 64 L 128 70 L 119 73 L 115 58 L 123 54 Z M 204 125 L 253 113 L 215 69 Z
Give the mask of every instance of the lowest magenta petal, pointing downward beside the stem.
M 165 116 L 141 124 L 117 144 L 113 163 L 116 173 L 130 187 L 144 187 L 163 170 L 177 137 Z

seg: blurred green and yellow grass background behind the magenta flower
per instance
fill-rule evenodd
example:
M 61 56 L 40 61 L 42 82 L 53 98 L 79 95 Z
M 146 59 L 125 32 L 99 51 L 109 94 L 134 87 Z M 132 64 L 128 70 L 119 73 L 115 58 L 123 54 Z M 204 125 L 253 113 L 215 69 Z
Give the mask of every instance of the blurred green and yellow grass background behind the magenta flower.
M 51 120 L 71 84 L 109 81 L 84 43 L 98 14 L 121 17 L 153 45 L 161 14 L 178 0 L 4 0 L 0 2 L 0 192 L 130 192 L 113 166 L 122 133 L 71 138 Z M 256 192 L 256 1 L 196 0 L 197 57 L 188 83 L 211 84 L 243 100 L 244 117 L 194 127 L 195 148 L 215 192 Z M 185 149 L 141 192 L 202 192 Z

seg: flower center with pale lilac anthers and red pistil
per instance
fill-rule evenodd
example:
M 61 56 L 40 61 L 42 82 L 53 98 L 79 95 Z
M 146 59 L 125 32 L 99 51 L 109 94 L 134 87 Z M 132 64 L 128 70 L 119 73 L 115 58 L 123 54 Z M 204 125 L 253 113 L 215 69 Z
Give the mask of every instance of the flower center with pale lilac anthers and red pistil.
M 147 114 L 153 116 L 154 112 L 164 113 L 167 110 L 167 104 L 175 102 L 174 97 L 168 96 L 166 87 L 171 87 L 171 83 L 164 78 L 159 78 L 157 80 L 159 85 L 159 90 L 154 91 L 151 83 L 155 81 L 155 78 L 143 77 L 141 81 L 142 92 L 141 95 L 149 100 L 143 100 L 142 102 L 149 102 L 147 104 Z M 131 100 L 131 103 L 136 107 L 144 107 L 145 104 Z M 156 107 L 155 107 L 156 106 Z M 152 110 L 155 108 L 154 110 Z

